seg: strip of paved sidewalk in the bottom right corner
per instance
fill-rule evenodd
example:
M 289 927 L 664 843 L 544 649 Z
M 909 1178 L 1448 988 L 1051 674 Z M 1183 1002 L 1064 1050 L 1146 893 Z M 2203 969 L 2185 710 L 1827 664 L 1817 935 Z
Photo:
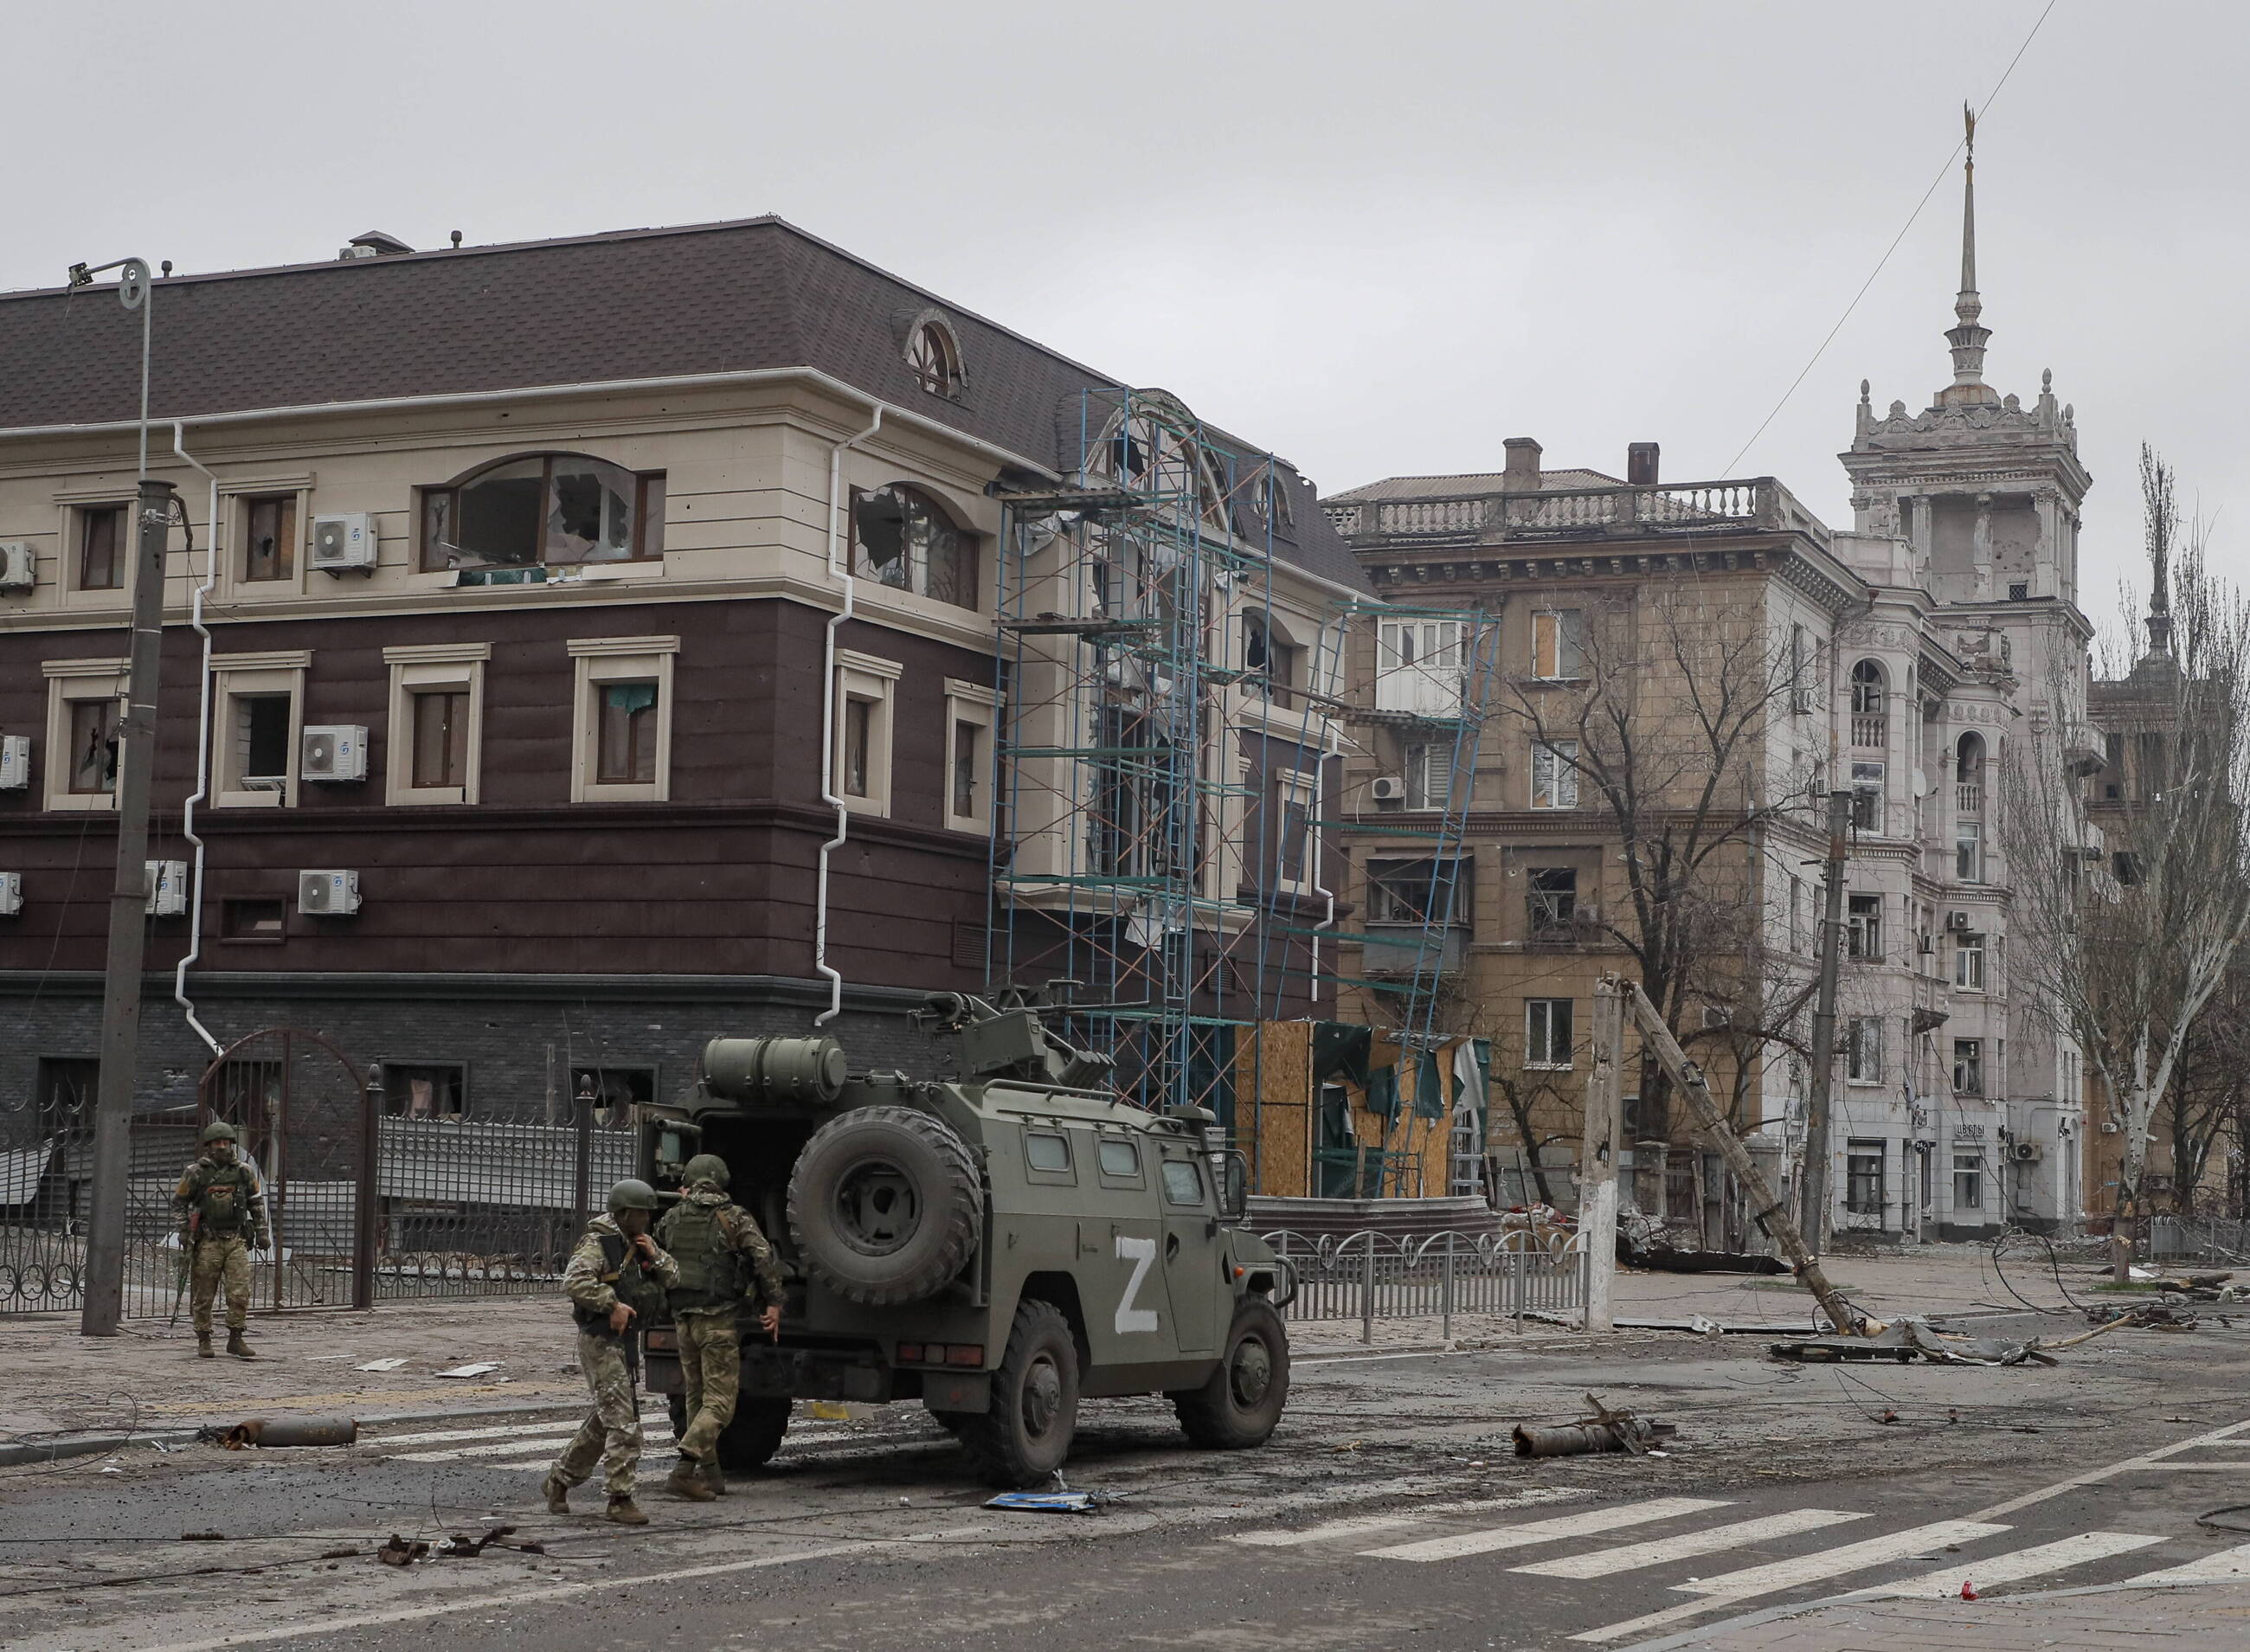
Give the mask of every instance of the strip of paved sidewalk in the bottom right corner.
M 2250 1645 L 2250 1582 L 2176 1589 L 2066 1589 L 1998 1600 L 1861 1600 L 1778 1614 L 1739 1629 L 1660 1641 L 1678 1652 L 2241 1652 Z

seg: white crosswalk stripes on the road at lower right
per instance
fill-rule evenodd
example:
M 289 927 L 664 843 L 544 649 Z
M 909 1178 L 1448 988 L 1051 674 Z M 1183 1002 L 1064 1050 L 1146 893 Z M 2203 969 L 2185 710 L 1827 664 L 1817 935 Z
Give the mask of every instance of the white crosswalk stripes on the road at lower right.
M 1593 1645 L 1640 1638 L 1688 1618 L 1807 1589 L 1822 1596 L 1843 1591 L 1850 1598 L 1960 1596 L 1964 1587 L 1987 1593 L 2034 1578 L 2061 1578 L 2072 1569 L 2115 1562 L 2167 1542 L 2151 1533 L 2081 1530 L 2012 1546 L 2007 1542 L 2016 1530 L 2012 1524 L 1937 1519 L 1852 1542 L 1822 1544 L 1822 1535 L 1832 1528 L 1868 1521 L 1874 1515 L 1847 1508 L 1789 1508 L 1748 1519 L 1714 1519 L 1721 1510 L 1732 1508 L 1737 1506 L 1728 1499 L 1652 1497 L 1483 1526 L 1476 1524 L 1478 1503 L 1431 1503 L 1388 1515 L 1328 1519 L 1303 1528 L 1233 1533 L 1231 1542 L 1256 1548 L 1325 1548 L 1368 1562 L 1413 1564 L 1548 1548 L 1550 1553 L 1510 1564 L 1508 1571 L 1577 1582 L 1620 1573 L 1654 1573 L 1663 1566 L 1685 1569 L 1692 1560 L 1714 1555 L 1739 1555 L 1746 1562 L 1674 1580 L 1652 1578 L 1654 1587 L 1672 1596 L 1688 1596 L 1688 1600 L 1570 1636 Z M 1660 1526 L 1672 1526 L 1672 1530 L 1642 1535 L 1642 1528 Z M 1611 1535 L 1627 1533 L 1634 1535 L 1631 1542 L 1611 1542 Z M 1807 1542 L 1814 1546 L 1804 1546 Z M 1942 1564 L 1933 1566 L 1930 1562 Z M 1899 1575 L 1883 1578 L 1886 1571 Z M 1868 1582 L 1870 1573 L 1876 1575 L 1872 1582 Z M 2115 1569 L 2108 1569 L 2099 1580 L 2174 1584 L 2250 1578 L 2250 1544 L 2158 1571 L 2113 1573 Z M 2063 1584 L 2068 1582 L 2072 1580 L 2063 1580 Z M 1598 1598 L 1591 1602 L 1598 1605 Z

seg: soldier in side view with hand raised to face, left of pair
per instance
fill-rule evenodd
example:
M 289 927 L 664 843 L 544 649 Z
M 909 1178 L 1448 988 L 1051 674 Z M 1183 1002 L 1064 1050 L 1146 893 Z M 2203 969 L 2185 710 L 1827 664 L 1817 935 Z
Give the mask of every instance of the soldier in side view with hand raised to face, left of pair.
M 657 1191 L 632 1177 L 610 1188 L 610 1213 L 596 1215 L 562 1269 L 562 1292 L 578 1321 L 578 1368 L 594 1391 L 594 1411 L 547 1470 L 540 1490 L 547 1508 L 569 1512 L 572 1485 L 585 1483 L 594 1463 L 603 1465 L 608 1517 L 621 1526 L 646 1526 L 648 1515 L 632 1501 L 632 1474 L 641 1463 L 641 1404 L 632 1391 L 632 1339 L 639 1321 L 664 1308 L 664 1292 L 680 1283 L 680 1267 L 650 1238 Z

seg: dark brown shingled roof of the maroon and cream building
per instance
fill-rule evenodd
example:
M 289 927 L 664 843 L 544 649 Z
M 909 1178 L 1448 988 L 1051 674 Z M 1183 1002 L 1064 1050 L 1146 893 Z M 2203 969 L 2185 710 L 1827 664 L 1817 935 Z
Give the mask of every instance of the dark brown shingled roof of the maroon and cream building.
M 925 392 L 904 360 L 929 308 L 961 342 L 958 401 Z M 1078 466 L 1082 394 L 1118 383 L 781 218 L 745 218 L 166 277 L 148 403 L 196 419 L 756 367 L 821 369 L 1058 473 Z M 110 288 L 0 295 L 0 430 L 137 412 L 140 326 Z M 1292 484 L 1282 560 L 1368 590 L 1312 488 Z

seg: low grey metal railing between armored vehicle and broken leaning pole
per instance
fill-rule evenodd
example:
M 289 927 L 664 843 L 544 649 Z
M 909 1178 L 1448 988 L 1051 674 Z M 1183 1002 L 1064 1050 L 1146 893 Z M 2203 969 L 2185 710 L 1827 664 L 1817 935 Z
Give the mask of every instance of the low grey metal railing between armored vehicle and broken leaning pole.
M 1521 1323 L 1532 1312 L 1575 1312 L 1586 1303 L 1580 1236 L 1544 1249 L 1528 1233 L 1310 1238 L 1285 1229 L 1264 1242 L 1296 1276 L 1285 1317 L 1357 1319 L 1361 1341 L 1375 1341 L 1377 1319 L 1438 1319 L 1449 1337 L 1456 1314 Z

